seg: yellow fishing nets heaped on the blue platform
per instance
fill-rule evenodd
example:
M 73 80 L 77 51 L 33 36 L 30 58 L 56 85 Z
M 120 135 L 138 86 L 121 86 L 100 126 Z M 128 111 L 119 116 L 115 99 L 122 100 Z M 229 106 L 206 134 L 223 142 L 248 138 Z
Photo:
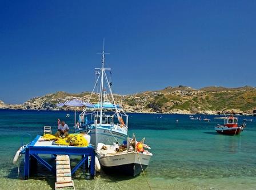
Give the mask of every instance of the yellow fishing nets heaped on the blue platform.
M 56 138 L 54 135 L 46 134 L 43 135 L 42 138 L 45 140 L 55 140 L 55 143 L 60 145 L 70 145 L 75 147 L 87 147 L 89 145 L 83 135 L 80 134 L 70 134 L 64 139 Z

